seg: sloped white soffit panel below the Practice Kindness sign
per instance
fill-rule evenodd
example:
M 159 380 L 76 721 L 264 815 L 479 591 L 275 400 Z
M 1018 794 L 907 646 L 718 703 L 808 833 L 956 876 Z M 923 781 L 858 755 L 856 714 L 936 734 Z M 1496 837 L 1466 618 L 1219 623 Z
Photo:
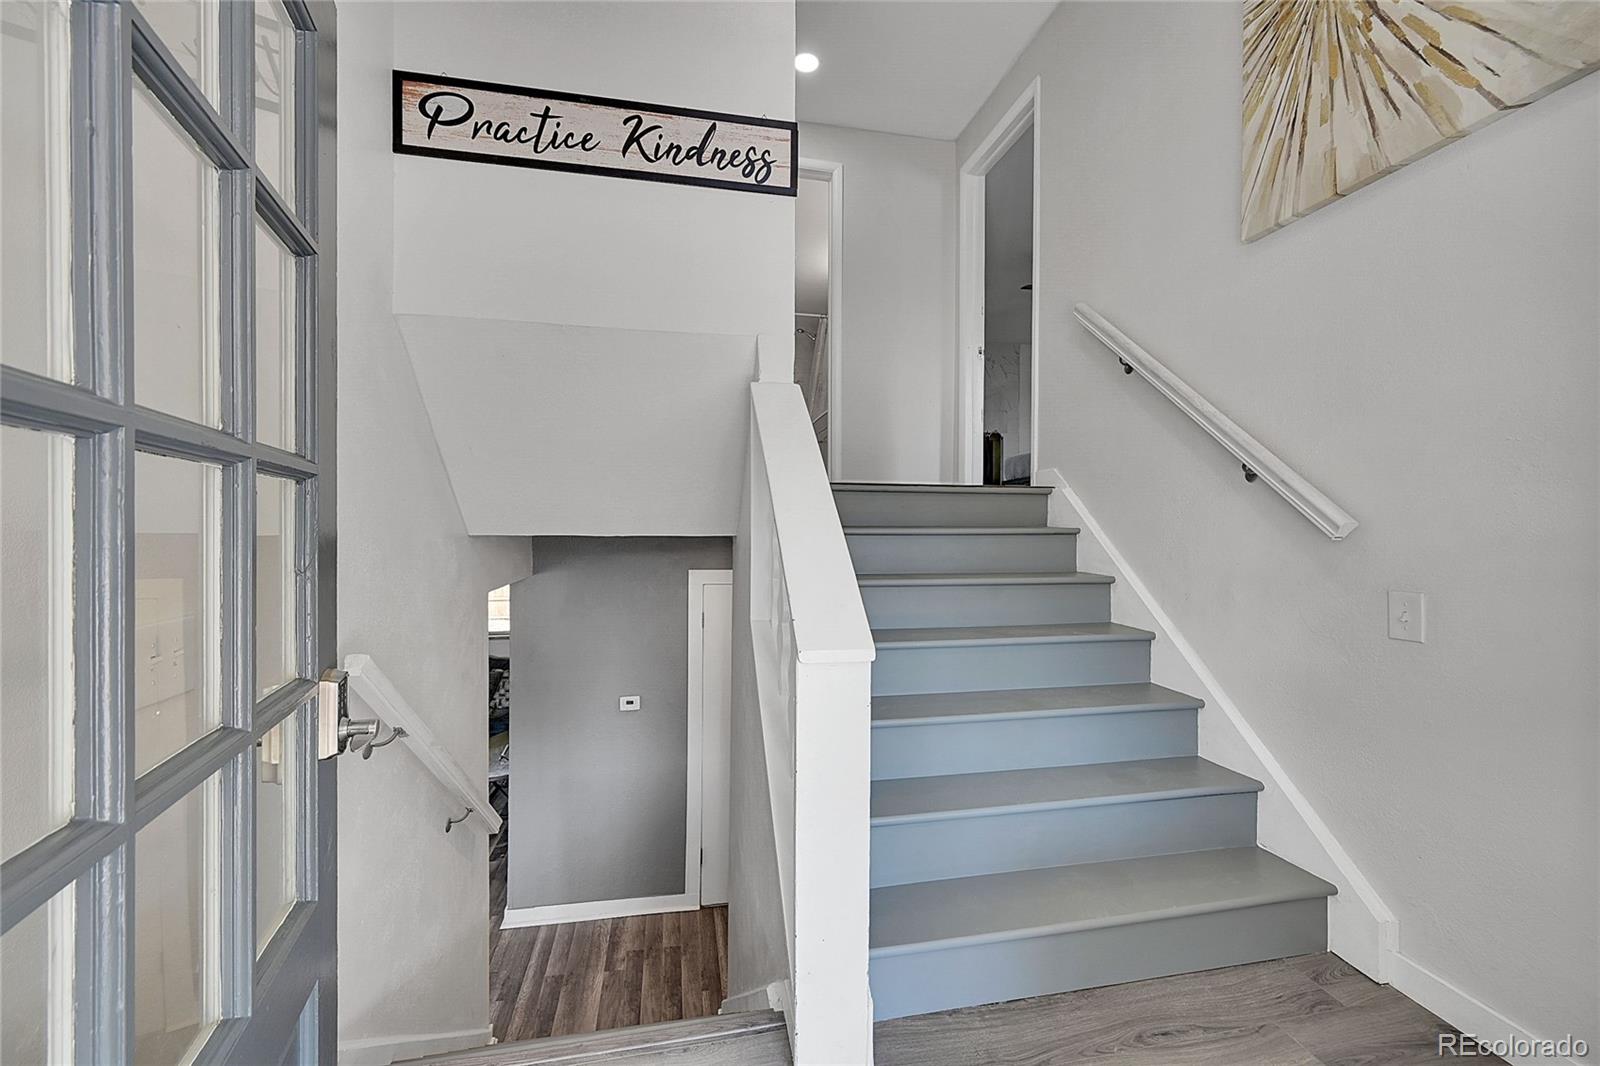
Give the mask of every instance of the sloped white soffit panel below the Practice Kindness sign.
M 469 533 L 733 533 L 754 338 L 397 319 Z

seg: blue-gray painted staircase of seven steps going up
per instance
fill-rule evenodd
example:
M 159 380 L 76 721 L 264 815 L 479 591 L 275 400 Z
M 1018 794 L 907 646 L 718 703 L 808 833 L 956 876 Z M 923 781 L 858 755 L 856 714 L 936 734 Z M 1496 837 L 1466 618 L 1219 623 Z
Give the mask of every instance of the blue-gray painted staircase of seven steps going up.
M 877 1018 L 1326 948 L 1328 882 L 1256 847 L 1048 488 L 834 487 L 872 667 Z

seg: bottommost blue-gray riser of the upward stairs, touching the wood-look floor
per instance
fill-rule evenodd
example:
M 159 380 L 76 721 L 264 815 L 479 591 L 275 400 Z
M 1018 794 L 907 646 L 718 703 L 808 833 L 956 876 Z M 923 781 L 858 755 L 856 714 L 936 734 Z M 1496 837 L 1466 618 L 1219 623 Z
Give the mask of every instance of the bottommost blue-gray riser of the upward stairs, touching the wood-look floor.
M 1325 951 L 1328 901 L 1296 900 L 939 951 L 874 954 L 874 1015 L 901 1018 Z

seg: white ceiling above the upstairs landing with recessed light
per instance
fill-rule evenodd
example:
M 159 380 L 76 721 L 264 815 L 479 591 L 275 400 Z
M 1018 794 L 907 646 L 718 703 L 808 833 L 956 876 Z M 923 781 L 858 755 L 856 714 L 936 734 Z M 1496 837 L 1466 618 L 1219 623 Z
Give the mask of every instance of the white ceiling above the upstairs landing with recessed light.
M 954 141 L 1056 5 L 1035 0 L 798 0 L 800 122 Z

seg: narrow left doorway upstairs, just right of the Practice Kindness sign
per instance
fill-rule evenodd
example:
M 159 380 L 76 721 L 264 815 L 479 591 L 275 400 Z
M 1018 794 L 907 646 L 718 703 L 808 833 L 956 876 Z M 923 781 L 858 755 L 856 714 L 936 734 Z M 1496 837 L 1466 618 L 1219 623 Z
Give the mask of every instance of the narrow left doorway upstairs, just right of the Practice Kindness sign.
M 822 463 L 840 477 L 840 253 L 845 168 L 800 160 L 795 194 L 795 384 Z

